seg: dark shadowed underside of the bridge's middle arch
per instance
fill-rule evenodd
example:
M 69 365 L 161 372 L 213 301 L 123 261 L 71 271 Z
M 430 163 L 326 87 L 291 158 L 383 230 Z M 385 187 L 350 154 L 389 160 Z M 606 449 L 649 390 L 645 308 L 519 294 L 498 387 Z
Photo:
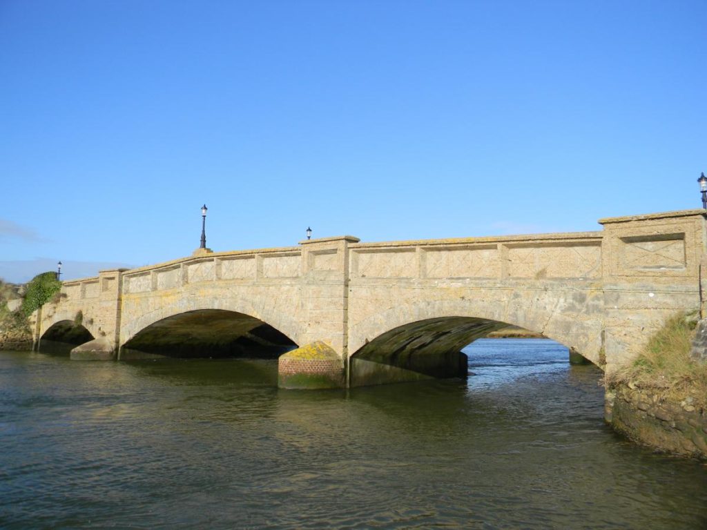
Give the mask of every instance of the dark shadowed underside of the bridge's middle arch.
M 119 357 L 277 358 L 295 347 L 288 336 L 255 317 L 206 309 L 153 322 L 124 343 Z

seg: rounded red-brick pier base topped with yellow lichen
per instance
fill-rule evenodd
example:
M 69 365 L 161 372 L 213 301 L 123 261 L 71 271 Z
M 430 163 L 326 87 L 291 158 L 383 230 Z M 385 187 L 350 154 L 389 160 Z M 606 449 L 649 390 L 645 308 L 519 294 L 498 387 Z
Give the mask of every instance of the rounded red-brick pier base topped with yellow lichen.
M 278 387 L 327 389 L 345 386 L 344 365 L 334 348 L 322 341 L 309 343 L 281 355 Z

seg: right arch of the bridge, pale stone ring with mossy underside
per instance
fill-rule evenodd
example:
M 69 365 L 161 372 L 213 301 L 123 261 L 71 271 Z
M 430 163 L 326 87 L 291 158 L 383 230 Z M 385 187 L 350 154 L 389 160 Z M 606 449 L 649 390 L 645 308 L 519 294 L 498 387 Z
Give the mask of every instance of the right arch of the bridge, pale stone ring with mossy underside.
M 371 362 L 450 377 L 455 374 L 447 372 L 456 370 L 457 354 L 464 346 L 509 324 L 541 333 L 600 365 L 599 320 L 565 312 L 561 300 L 527 305 L 515 305 L 512 300 L 512 294 L 505 304 L 493 305 L 475 300 L 433 300 L 371 314 L 349 328 L 352 385 L 357 386 L 357 370 L 370 372 L 365 365 Z M 360 375 L 359 379 L 375 377 Z

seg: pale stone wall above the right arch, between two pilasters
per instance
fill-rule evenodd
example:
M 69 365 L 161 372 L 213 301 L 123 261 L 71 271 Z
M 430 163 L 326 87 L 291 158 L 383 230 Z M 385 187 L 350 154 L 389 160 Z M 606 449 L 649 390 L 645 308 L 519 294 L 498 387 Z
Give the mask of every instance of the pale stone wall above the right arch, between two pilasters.
M 598 365 L 601 243 L 601 232 L 585 232 L 351 245 L 349 353 L 393 329 L 467 317 L 486 331 L 536 331 Z

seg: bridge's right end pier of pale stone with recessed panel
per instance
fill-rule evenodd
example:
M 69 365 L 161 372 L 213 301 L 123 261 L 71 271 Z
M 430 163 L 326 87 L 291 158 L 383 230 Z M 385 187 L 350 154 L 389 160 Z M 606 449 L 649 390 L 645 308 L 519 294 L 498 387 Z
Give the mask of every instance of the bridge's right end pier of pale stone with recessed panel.
M 629 363 L 667 317 L 701 305 L 705 211 L 602 219 L 607 371 Z

